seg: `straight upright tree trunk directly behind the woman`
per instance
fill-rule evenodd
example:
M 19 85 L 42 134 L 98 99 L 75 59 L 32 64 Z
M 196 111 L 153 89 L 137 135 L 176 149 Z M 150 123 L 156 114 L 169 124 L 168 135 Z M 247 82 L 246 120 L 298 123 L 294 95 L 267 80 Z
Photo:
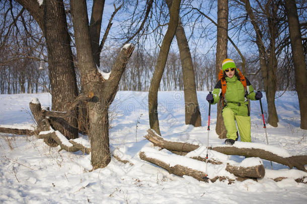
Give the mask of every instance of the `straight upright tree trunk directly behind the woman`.
M 216 37 L 216 79 L 222 69 L 222 61 L 227 58 L 228 37 L 228 0 L 217 1 L 217 37 Z M 222 117 L 222 107 L 217 104 L 215 131 L 219 138 L 226 138 L 227 130 Z

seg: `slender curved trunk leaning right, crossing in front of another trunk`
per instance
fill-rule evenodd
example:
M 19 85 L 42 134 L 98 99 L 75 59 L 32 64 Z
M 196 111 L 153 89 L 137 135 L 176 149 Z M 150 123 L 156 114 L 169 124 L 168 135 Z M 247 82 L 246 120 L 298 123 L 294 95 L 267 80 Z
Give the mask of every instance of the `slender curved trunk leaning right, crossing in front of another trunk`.
M 152 75 L 148 92 L 149 124 L 150 128 L 155 129 L 158 134 L 161 134 L 158 118 L 158 90 L 170 51 L 170 46 L 176 33 L 180 2 L 181 0 L 174 0 L 170 9 L 169 27 L 162 41 L 162 46 L 157 59 L 157 65 L 155 67 L 154 74 Z

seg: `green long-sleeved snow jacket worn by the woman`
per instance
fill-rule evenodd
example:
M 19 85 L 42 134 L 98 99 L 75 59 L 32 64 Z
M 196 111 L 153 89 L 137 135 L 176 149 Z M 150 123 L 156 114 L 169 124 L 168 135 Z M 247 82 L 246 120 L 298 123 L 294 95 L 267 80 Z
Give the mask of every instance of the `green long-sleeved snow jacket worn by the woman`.
M 224 98 L 224 107 L 231 108 L 236 115 L 249 116 L 250 110 L 248 107 L 248 100 L 256 100 L 254 88 L 251 85 L 250 81 L 245 78 L 247 90 L 244 89 L 244 86 L 239 81 L 237 76 L 232 78 L 225 78 L 226 80 L 226 93 Z M 221 82 L 220 80 L 214 87 L 213 90 L 213 103 L 215 104 L 219 101 L 221 95 Z

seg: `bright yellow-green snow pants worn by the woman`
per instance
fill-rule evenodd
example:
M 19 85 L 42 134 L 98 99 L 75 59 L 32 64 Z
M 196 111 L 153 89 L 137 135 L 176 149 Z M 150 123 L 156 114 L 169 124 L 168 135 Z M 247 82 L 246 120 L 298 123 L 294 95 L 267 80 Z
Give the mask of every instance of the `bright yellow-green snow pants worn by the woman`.
M 239 134 L 242 142 L 252 142 L 251 140 L 251 117 L 250 116 L 242 116 L 237 115 L 234 111 L 225 107 L 222 110 L 222 116 L 224 119 L 224 124 L 227 130 L 226 137 L 228 139 L 236 140 L 237 138 L 237 125 L 239 129 Z

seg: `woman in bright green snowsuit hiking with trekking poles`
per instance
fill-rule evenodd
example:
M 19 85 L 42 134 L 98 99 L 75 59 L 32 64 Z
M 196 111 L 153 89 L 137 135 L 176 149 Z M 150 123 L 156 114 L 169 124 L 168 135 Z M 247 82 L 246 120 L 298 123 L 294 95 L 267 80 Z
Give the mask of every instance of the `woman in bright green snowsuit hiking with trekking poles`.
M 222 116 L 227 130 L 226 145 L 233 145 L 238 140 L 237 126 L 242 142 L 251 142 L 251 117 L 248 99 L 259 100 L 262 98 L 260 91 L 254 88 L 247 78 L 237 69 L 234 60 L 225 59 L 222 62 L 222 78 L 214 87 L 213 93 L 208 94 L 206 100 L 215 104 L 220 97 L 223 106 Z M 222 88 L 226 86 L 226 89 Z M 224 93 L 222 89 L 225 90 Z

